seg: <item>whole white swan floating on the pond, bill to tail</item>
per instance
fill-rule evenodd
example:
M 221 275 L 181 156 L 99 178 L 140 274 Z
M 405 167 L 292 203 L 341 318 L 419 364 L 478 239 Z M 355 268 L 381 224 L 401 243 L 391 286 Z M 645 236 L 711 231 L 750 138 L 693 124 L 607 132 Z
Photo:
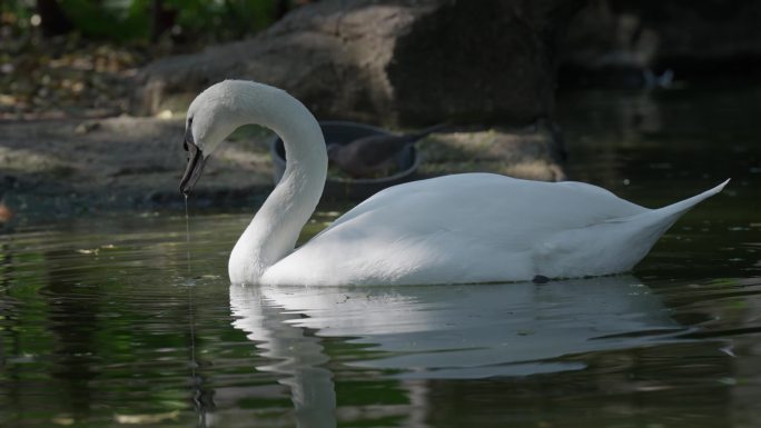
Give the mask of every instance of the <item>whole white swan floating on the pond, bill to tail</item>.
M 285 143 L 283 179 L 230 253 L 234 283 L 465 283 L 622 272 L 729 181 L 651 210 L 581 182 L 446 176 L 385 189 L 295 250 L 327 173 L 325 140 L 307 108 L 283 90 L 226 80 L 201 92 L 187 117 L 185 195 L 239 126 L 265 126 Z

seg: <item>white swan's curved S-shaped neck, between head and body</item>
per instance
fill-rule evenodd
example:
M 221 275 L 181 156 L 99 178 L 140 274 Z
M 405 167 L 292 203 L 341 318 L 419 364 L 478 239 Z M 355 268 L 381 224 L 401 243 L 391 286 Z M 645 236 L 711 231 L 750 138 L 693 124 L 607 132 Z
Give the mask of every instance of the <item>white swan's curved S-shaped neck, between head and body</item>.
M 327 175 L 325 140 L 304 104 L 279 89 L 254 86 L 240 93 L 240 115 L 284 141 L 286 170 L 230 253 L 233 282 L 257 283 L 264 272 L 296 246 L 323 195 Z

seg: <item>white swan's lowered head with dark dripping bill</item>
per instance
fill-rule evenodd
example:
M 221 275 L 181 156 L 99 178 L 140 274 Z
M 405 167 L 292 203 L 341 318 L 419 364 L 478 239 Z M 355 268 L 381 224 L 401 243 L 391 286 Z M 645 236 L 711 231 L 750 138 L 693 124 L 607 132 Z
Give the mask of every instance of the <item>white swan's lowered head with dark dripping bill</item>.
M 201 92 L 190 103 L 185 122 L 185 151 L 188 165 L 180 181 L 180 191 L 188 195 L 198 182 L 208 157 L 227 136 L 247 122 L 246 94 L 254 82 L 225 80 Z M 250 113 L 249 113 L 250 115 Z

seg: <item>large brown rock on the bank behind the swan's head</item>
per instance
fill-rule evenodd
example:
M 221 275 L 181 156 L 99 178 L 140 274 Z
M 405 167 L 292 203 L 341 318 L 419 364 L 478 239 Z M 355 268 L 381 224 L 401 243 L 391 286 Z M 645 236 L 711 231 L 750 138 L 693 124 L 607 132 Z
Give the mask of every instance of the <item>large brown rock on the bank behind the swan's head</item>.
M 556 44 L 584 0 L 326 0 L 258 37 L 141 71 L 136 109 L 181 109 L 205 87 L 254 79 L 320 119 L 375 123 L 551 116 Z

